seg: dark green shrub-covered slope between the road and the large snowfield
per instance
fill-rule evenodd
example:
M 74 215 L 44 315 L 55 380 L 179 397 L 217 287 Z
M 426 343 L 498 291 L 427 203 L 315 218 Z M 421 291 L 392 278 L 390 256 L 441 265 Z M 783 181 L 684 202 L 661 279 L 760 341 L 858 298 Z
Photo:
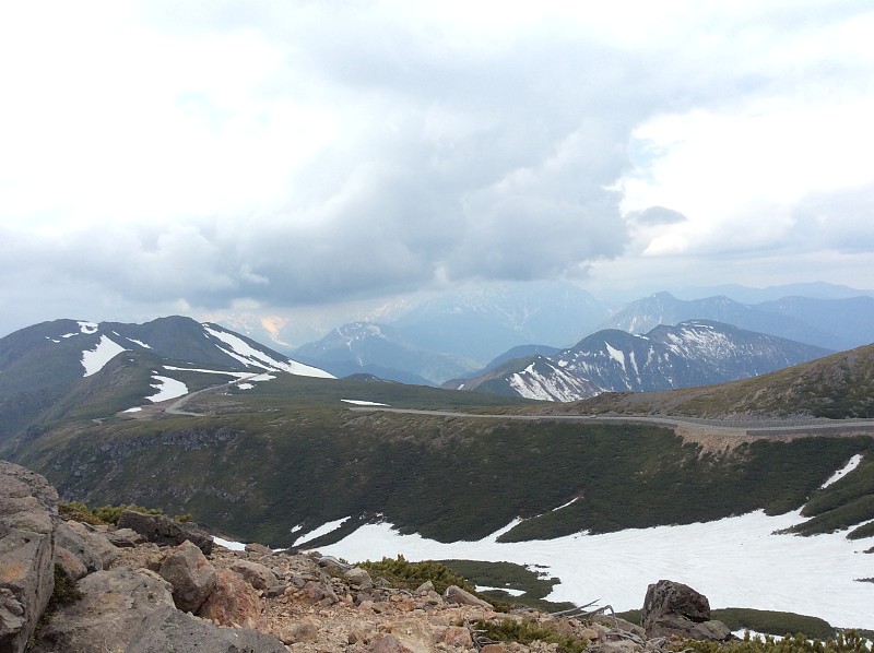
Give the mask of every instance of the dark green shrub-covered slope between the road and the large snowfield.
M 341 399 L 492 413 L 525 404 L 488 397 L 493 405 L 474 406 L 484 395 L 292 377 L 186 406 L 206 417 L 68 423 L 15 458 L 68 500 L 190 512 L 287 546 L 295 525 L 353 518 L 330 538 L 377 514 L 449 542 L 479 539 L 517 517 L 528 521 L 505 539 L 778 513 L 872 448 L 870 437 L 804 438 L 702 456 L 665 428 L 366 413 Z

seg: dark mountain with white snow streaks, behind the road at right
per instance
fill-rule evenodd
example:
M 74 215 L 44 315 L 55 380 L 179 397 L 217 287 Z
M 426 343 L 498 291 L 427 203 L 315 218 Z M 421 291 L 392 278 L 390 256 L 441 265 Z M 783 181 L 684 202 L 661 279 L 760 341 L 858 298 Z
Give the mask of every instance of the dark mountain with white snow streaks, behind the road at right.
M 827 349 L 693 320 L 659 325 L 646 335 L 599 331 L 548 356 L 510 360 L 445 387 L 550 401 L 605 391 L 643 392 L 755 377 L 829 354 Z

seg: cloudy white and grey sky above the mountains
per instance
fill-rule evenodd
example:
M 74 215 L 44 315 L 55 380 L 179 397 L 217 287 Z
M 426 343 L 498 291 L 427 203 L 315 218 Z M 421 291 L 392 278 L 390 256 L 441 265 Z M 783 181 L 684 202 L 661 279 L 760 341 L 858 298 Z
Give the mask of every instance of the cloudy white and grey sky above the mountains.
M 0 336 L 874 288 L 872 33 L 867 0 L 4 3 Z

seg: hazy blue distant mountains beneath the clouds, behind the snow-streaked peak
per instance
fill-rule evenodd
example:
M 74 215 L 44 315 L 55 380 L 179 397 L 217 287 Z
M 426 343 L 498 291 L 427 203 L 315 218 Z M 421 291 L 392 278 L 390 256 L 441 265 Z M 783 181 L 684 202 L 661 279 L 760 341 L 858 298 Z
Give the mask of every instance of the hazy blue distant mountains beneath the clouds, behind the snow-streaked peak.
M 781 290 L 805 288 L 816 296 L 773 298 Z M 851 288 L 807 284 L 758 292 L 725 289 L 770 299 L 758 304 L 728 296 L 684 300 L 658 293 L 611 313 L 605 302 L 570 284 L 496 285 L 445 293 L 398 312 L 389 323 L 344 324 L 290 353 L 336 376 L 369 372 L 404 383 L 440 385 L 449 379 L 479 378 L 512 358 L 546 356 L 597 331 L 643 334 L 660 324 L 688 320 L 731 324 L 823 351 L 874 342 L 874 297 L 850 296 Z M 569 378 L 565 381 L 572 388 Z

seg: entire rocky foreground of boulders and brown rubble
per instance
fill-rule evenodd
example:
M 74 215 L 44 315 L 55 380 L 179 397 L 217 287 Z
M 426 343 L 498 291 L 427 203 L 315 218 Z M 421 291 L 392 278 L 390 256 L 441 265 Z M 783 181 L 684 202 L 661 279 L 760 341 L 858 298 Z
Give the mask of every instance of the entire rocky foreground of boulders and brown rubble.
M 392 587 L 318 554 L 227 550 L 160 515 L 64 521 L 57 500 L 45 478 L 0 461 L 0 652 L 498 653 L 571 642 L 633 653 L 731 638 L 706 597 L 670 581 L 650 585 L 646 629 L 603 614 L 496 613 L 458 586 Z M 482 628 L 506 620 L 566 643 L 497 641 Z

